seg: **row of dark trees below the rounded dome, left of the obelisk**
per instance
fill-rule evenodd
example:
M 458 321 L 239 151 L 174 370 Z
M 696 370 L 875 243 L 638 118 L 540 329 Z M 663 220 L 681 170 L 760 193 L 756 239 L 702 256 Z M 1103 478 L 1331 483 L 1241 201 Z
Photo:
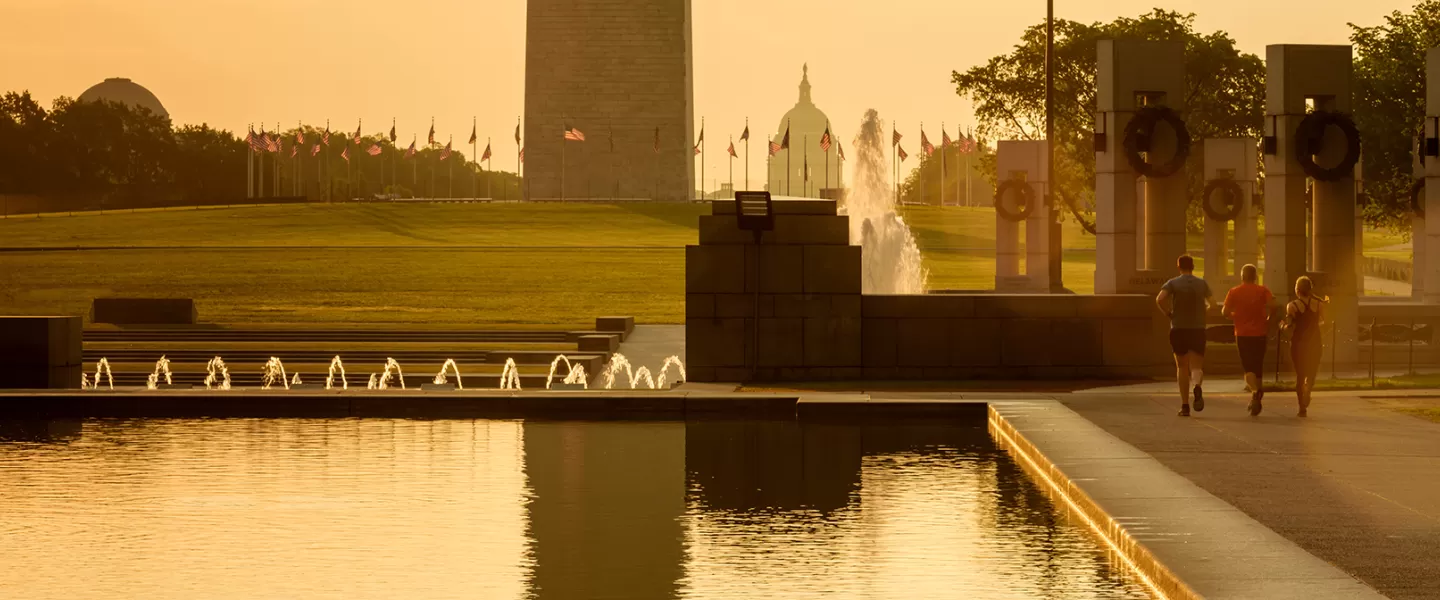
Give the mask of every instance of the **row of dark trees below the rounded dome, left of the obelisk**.
M 297 134 L 304 132 L 305 144 Z M 0 194 L 35 197 L 36 210 L 101 207 L 213 204 L 240 201 L 246 193 L 249 144 L 242 134 L 206 124 L 173 127 L 170 119 L 144 108 L 117 102 L 78 102 L 58 98 L 46 111 L 29 92 L 0 96 Z M 518 197 L 513 173 L 482 171 L 465 154 L 454 151 L 441 160 L 441 148 L 418 148 L 403 158 L 383 135 L 333 132 L 320 144 L 314 127 L 272 131 L 282 141 L 279 153 L 259 153 L 265 164 L 253 174 L 258 188 L 291 196 L 300 184 L 302 196 L 337 194 Z M 372 145 L 383 154 L 366 154 Z M 348 145 L 350 164 L 341 158 Z M 279 177 L 276 181 L 275 178 Z M 454 177 L 454 186 L 451 184 Z M 297 181 L 297 178 L 300 181 Z M 343 190 L 343 191 L 341 191 Z

